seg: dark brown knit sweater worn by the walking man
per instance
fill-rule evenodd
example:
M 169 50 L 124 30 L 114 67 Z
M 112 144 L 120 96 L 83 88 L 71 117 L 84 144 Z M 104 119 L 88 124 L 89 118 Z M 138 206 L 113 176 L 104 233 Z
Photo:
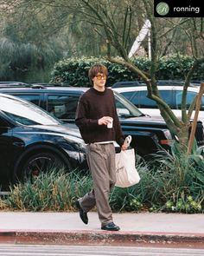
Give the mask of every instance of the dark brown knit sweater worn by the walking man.
M 113 118 L 113 128 L 98 124 L 103 116 Z M 120 146 L 124 143 L 112 89 L 105 88 L 104 92 L 99 92 L 91 88 L 81 95 L 75 122 L 86 143 L 117 141 Z

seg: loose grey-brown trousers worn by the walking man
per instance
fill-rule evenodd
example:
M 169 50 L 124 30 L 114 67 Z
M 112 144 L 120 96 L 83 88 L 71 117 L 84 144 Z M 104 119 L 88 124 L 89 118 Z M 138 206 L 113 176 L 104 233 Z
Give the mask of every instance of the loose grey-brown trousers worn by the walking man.
M 86 159 L 92 174 L 93 189 L 80 198 L 80 206 L 86 213 L 96 206 L 103 226 L 112 222 L 109 195 L 116 183 L 115 147 L 113 143 L 88 144 Z

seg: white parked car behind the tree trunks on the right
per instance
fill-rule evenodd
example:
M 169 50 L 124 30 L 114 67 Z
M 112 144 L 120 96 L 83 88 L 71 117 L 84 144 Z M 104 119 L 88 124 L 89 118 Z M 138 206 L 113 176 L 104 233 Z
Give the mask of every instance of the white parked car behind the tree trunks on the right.
M 159 93 L 163 100 L 169 105 L 178 118 L 182 118 L 182 86 L 158 86 Z M 132 102 L 143 113 L 151 116 L 159 117 L 160 110 L 156 102 L 147 97 L 147 87 L 139 86 L 137 88 L 120 88 L 114 89 L 121 95 L 124 95 L 130 102 Z M 187 108 L 190 106 L 194 97 L 198 94 L 199 88 L 188 87 L 187 93 Z M 192 119 L 194 118 L 194 112 Z M 204 124 L 204 96 L 202 96 L 201 109 L 199 113 L 199 120 Z

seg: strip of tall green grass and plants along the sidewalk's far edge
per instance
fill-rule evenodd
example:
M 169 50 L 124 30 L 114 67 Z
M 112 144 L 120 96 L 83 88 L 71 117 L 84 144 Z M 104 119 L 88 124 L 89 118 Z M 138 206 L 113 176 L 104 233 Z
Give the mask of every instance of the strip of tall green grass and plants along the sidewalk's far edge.
M 153 162 L 137 163 L 141 180 L 132 187 L 114 187 L 113 212 L 163 211 L 204 213 L 204 161 L 199 152 L 159 152 Z M 20 183 L 0 200 L 0 209 L 21 211 L 74 211 L 74 202 L 92 189 L 90 174 L 52 170 L 35 181 Z

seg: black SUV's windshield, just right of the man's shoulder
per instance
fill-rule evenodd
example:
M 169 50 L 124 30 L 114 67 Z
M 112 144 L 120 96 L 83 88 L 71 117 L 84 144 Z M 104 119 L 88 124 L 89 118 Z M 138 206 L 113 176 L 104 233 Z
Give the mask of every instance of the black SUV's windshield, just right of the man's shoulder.
M 116 99 L 116 108 L 119 117 L 129 118 L 143 115 L 143 113 L 131 102 L 125 99 L 123 95 L 120 95 L 117 92 L 114 92 L 114 95 Z

